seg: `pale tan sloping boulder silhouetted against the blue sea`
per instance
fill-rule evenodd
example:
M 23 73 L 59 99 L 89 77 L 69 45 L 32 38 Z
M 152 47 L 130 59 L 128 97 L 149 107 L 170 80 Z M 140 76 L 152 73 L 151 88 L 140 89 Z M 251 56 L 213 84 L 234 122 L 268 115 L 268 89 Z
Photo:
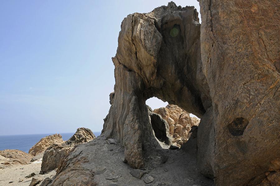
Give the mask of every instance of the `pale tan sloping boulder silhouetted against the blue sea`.
M 53 144 L 61 144 L 63 142 L 64 141 L 62 140 L 62 136 L 60 134 L 53 134 L 47 137 L 43 137 L 39 142 L 37 142 L 30 148 L 29 154 L 36 156 L 44 152 L 49 146 Z

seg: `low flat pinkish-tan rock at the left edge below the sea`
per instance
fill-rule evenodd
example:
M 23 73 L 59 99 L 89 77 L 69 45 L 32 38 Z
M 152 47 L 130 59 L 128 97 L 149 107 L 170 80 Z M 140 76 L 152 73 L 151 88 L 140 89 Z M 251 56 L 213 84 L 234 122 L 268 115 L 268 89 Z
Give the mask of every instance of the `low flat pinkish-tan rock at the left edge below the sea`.
M 7 149 L 7 150 L 0 151 L 1 164 L 7 166 L 14 165 L 14 164 L 22 164 L 22 165 L 28 164 L 30 163 L 30 160 L 33 157 L 34 156 L 20 150 Z

